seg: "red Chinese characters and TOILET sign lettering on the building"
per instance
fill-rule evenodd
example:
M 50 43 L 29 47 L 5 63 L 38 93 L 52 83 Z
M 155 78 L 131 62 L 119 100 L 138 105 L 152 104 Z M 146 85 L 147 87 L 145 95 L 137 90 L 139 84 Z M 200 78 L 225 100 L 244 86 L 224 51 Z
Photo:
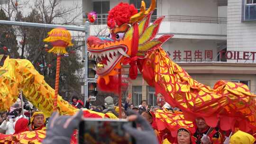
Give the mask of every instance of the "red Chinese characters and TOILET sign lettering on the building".
M 213 60 L 212 50 L 174 50 L 173 52 L 167 51 L 167 54 L 174 61 L 198 62 L 198 61 L 215 61 Z M 204 54 L 204 55 L 203 55 Z M 219 59 L 226 60 L 255 60 L 256 52 L 245 51 L 219 51 Z M 216 59 L 217 60 L 217 59 Z

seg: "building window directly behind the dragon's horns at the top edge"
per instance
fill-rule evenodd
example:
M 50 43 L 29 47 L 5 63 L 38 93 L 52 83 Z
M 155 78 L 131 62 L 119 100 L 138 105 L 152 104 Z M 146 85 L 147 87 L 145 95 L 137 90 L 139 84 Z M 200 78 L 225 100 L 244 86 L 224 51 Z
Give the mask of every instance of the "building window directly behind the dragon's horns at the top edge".
M 146 3 L 146 9 L 148 9 L 150 7 L 151 4 L 151 0 L 144 0 L 144 2 Z M 141 0 L 130 0 L 130 4 L 134 4 L 134 6 L 138 9 L 138 11 L 140 10 L 140 6 L 141 6 Z M 156 4 L 155 4 L 155 10 L 152 14 L 151 17 L 151 22 L 154 22 L 157 16 L 157 0 L 156 0 Z

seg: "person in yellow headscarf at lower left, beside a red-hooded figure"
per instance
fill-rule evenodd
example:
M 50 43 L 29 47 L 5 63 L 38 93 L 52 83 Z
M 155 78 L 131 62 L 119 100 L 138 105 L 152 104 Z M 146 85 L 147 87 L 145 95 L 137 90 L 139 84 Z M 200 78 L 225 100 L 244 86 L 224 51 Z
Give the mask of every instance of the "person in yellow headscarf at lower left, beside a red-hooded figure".
M 46 130 L 46 117 L 43 112 L 34 112 L 32 117 L 30 117 L 30 125 L 27 127 L 29 131 L 34 130 Z

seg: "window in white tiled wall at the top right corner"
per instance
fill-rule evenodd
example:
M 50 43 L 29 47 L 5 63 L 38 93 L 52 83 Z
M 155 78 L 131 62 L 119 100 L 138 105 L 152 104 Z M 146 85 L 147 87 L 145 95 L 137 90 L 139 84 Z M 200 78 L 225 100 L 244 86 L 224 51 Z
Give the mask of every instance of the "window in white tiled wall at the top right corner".
M 242 21 L 256 20 L 256 0 L 243 0 Z

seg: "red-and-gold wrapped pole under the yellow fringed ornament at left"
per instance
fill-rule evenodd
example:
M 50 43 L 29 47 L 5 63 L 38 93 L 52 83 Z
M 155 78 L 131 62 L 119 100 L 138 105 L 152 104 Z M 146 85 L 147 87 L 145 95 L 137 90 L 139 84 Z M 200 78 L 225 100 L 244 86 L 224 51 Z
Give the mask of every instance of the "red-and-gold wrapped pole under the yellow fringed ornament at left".
M 57 110 L 57 100 L 58 100 L 58 91 L 59 91 L 59 77 L 60 77 L 60 63 L 61 63 L 61 54 L 57 54 L 57 64 L 56 64 L 56 75 L 55 75 L 55 93 L 54 93 L 54 108 Z

